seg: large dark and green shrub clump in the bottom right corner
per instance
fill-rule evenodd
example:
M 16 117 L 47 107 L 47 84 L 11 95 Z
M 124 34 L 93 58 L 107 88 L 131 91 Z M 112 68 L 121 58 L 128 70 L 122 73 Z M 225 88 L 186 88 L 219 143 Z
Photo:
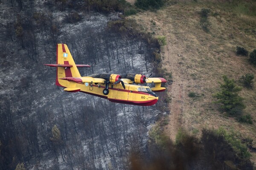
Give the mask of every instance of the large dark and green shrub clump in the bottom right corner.
M 234 132 L 227 132 L 222 127 L 218 130 L 204 129 L 201 143 L 209 158 L 215 162 L 216 169 L 253 169 L 246 144 L 242 144 Z

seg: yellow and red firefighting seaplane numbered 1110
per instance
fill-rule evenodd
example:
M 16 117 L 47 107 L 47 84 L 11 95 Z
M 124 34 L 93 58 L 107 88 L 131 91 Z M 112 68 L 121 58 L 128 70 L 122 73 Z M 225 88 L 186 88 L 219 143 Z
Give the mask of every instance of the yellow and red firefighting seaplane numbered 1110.
M 160 77 L 147 78 L 142 74 L 93 74 L 81 77 L 78 67 L 90 65 L 76 65 L 66 44 L 57 44 L 56 64 L 44 64 L 56 67 L 56 85 L 64 87 L 64 91 L 83 92 L 108 99 L 111 102 L 130 105 L 154 105 L 158 96 L 154 91 L 165 91 L 161 87 L 166 79 Z M 155 87 L 132 85 L 154 83 Z

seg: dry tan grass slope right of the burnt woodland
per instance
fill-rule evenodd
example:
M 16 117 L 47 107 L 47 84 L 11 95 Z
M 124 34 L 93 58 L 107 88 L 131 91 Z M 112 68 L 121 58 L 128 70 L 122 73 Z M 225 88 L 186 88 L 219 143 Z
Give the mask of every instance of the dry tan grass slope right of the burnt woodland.
M 236 46 L 243 46 L 248 51 L 256 48 L 256 17 L 236 15 L 225 11 L 224 7 L 206 4 L 177 3 L 157 12 L 145 11 L 131 16 L 143 25 L 142 31 L 166 36 L 167 45 L 162 49 L 166 64 L 163 65 L 174 80 L 168 87 L 168 94 L 173 99 L 169 104 L 171 114 L 166 133 L 174 139 L 180 126 L 191 132 L 197 129 L 200 132 L 204 127 L 224 126 L 227 130 L 231 127 L 241 134 L 241 138 L 252 138 L 256 147 L 255 89 L 243 88 L 240 93 L 247 106 L 244 112 L 252 115 L 253 125 L 223 116 L 218 106 L 212 104 L 212 94 L 218 90 L 218 81 L 224 74 L 236 80 L 247 73 L 256 75 L 256 68 L 250 65 L 248 57 L 235 54 Z M 201 8 L 211 10 L 209 33 L 199 24 Z M 190 91 L 199 97 L 189 98 Z M 256 163 L 255 153 L 252 160 Z

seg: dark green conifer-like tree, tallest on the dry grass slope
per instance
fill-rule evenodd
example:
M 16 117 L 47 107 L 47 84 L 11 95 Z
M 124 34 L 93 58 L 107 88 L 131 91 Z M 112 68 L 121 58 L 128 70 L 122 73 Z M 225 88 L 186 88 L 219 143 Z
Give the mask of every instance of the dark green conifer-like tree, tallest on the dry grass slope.
M 223 76 L 224 83 L 220 83 L 221 91 L 213 94 L 217 98 L 215 103 L 221 103 L 221 108 L 229 114 L 241 113 L 245 108 L 243 98 L 239 96 L 238 92 L 242 90 L 241 87 L 235 85 L 234 79 L 228 79 L 226 75 Z

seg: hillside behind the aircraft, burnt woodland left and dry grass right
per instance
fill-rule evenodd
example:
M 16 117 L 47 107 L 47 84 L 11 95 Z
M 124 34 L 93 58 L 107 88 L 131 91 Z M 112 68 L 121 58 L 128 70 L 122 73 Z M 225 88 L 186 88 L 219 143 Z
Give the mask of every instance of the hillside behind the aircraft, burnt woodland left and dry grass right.
M 239 93 L 253 124 L 223 113 L 212 94 L 223 75 L 239 86 L 256 75 L 236 55 L 256 48 L 255 1 L 163 0 L 147 10 L 137 1 L 0 1 L 0 170 L 253 169 L 256 85 Z M 55 63 L 56 43 L 91 65 L 81 75 L 152 73 L 167 92 L 147 107 L 65 92 L 43 65 Z

